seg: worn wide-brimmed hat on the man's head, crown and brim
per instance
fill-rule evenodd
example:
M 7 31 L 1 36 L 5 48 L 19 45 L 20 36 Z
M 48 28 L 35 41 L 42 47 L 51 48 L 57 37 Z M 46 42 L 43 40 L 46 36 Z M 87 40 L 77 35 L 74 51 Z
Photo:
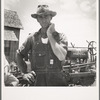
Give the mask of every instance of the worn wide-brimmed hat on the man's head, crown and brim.
M 51 15 L 54 17 L 57 13 L 55 11 L 49 10 L 48 5 L 38 5 L 37 12 L 35 14 L 31 14 L 33 18 L 37 18 L 41 15 Z

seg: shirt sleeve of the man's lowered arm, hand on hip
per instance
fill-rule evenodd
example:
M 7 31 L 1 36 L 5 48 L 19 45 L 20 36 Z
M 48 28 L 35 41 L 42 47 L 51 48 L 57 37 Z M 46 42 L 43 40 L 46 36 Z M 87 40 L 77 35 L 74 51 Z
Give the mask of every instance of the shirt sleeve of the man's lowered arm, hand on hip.
M 31 49 L 31 47 L 32 47 L 32 39 L 34 39 L 32 37 L 32 35 L 29 35 L 28 38 L 25 40 L 25 42 L 18 49 L 19 53 L 23 57 L 26 57 L 28 52 L 29 52 L 29 50 Z

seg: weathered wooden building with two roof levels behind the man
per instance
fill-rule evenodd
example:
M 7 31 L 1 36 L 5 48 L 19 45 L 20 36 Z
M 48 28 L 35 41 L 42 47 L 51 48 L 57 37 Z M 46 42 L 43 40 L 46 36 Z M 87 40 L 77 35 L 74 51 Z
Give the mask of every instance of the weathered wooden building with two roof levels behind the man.
M 21 21 L 16 11 L 4 10 L 4 53 L 8 62 L 16 62 L 16 50 L 19 46 Z

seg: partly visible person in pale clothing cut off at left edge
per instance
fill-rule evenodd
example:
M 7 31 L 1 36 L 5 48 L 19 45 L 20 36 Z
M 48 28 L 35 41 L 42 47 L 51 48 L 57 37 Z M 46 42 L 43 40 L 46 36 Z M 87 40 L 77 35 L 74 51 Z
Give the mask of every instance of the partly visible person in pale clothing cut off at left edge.
M 19 80 L 9 72 L 9 67 L 10 65 L 4 56 L 4 84 L 5 86 L 18 86 Z

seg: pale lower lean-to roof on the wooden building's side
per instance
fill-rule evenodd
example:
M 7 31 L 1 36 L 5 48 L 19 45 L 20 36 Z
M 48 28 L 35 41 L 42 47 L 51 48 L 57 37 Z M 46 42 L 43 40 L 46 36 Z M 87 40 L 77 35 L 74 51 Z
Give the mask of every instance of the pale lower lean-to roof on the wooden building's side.
M 4 31 L 4 40 L 7 41 L 18 41 L 14 31 L 5 30 Z

